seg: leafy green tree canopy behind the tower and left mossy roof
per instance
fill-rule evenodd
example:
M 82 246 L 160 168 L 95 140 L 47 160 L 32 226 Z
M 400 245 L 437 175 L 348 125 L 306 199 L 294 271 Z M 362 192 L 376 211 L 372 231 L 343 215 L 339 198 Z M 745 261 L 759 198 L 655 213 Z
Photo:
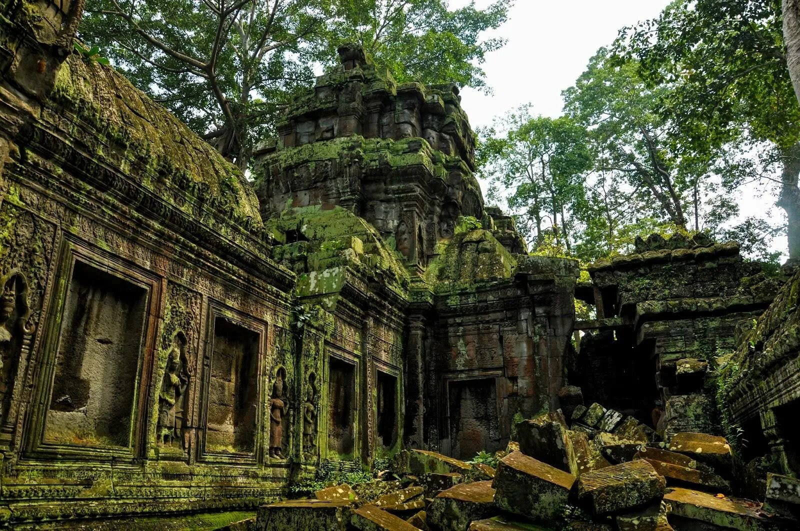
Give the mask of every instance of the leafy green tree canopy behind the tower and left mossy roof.
M 255 139 L 314 66 L 362 43 L 400 80 L 486 88 L 479 65 L 512 0 L 89 0 L 80 37 L 246 168 Z

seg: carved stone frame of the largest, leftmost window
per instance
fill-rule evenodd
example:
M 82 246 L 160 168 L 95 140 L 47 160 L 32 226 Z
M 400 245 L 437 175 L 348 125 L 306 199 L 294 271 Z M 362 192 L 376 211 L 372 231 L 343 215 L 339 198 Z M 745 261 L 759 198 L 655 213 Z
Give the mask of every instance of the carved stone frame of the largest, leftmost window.
M 137 465 L 138 458 L 144 457 L 147 450 L 150 381 L 153 377 L 153 365 L 157 361 L 155 358 L 161 329 L 158 316 L 163 313 L 162 295 L 166 289 L 166 278 L 98 246 L 84 242 L 72 234 L 63 234 L 56 262 L 54 289 L 50 293 L 47 315 L 42 318 L 42 342 L 34 354 L 38 375 L 34 381 L 31 414 L 26 419 L 24 430 L 24 453 L 26 457 L 73 461 L 113 460 L 120 465 L 126 463 Z M 100 269 L 146 291 L 145 319 L 142 325 L 142 341 L 138 353 L 130 413 L 130 446 L 127 449 L 113 446 L 70 445 L 44 440 L 61 341 L 62 320 L 66 311 L 66 298 L 77 262 Z

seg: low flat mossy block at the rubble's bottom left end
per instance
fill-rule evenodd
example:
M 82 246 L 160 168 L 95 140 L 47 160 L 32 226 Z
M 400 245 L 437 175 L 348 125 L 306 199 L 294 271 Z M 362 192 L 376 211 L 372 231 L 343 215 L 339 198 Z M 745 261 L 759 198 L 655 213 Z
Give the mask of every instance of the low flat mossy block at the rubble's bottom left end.
M 297 529 L 346 529 L 350 501 L 295 500 L 262 505 L 258 509 L 257 531 Z

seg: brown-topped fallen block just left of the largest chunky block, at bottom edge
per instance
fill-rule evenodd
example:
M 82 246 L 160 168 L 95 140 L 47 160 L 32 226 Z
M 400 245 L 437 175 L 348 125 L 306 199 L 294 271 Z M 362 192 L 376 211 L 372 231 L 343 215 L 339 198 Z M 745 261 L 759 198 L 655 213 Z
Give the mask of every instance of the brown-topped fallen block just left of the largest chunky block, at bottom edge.
M 442 531 L 463 531 L 471 521 L 496 512 L 491 481 L 455 485 L 438 493 L 428 507 L 428 525 Z

